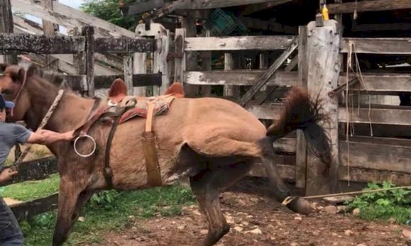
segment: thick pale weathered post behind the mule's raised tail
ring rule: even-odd
[[[312,98],[323,100],[324,112],[329,116],[322,123],[331,138],[332,163],[329,177],[324,177],[324,164],[311,153],[307,155],[307,196],[334,193],[338,189],[339,145],[338,145],[338,98],[329,92],[338,86],[341,61],[339,60],[340,37],[334,20],[324,21],[316,27],[315,21],[307,26],[307,87]]]

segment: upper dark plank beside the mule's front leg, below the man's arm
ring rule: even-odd
[[[57,160],[55,157],[44,157],[28,162],[21,162],[18,166],[18,175],[6,181],[1,186],[20,183],[29,180],[41,180],[50,177],[57,172]]]

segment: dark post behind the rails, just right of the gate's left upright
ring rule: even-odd
[[[182,18],[182,28],[185,28],[185,35],[187,37],[197,36],[196,18],[193,11],[187,11],[187,15]],[[197,70],[198,59],[197,51],[185,52],[185,64],[187,71]],[[185,84],[185,95],[187,97],[196,96],[198,86],[192,84]]]

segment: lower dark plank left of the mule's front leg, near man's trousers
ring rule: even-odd
[[[13,211],[14,216],[16,216],[16,219],[18,221],[23,221],[41,213],[53,211],[57,209],[57,204],[58,194],[53,194],[45,198],[35,199],[25,203],[13,204],[10,208],[11,211]]]

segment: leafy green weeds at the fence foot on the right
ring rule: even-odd
[[[369,183],[364,190],[395,187],[390,181],[379,185]],[[347,201],[349,208],[359,208],[359,217],[366,220],[388,220],[394,218],[396,223],[411,224],[411,190],[395,189],[378,191],[375,193],[356,196],[352,201]]]

